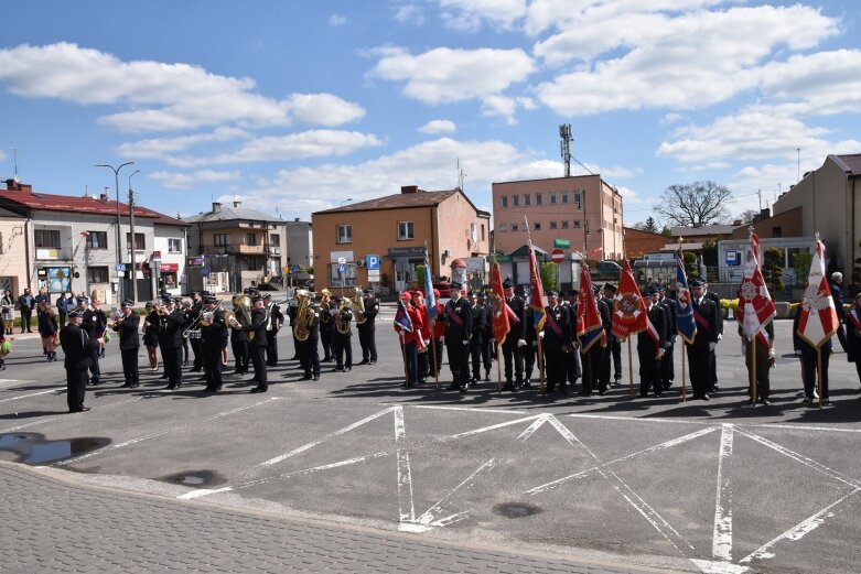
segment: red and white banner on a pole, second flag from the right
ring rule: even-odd
[[[751,246],[745,250],[744,279],[739,289],[739,308],[735,317],[747,340],[756,337],[766,348],[771,348],[772,342],[768,339],[765,326],[777,315],[777,310],[765,284],[761,253],[760,238],[756,234],[751,234]]]

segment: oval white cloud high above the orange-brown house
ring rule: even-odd
[[[437,105],[499,94],[534,71],[535,63],[519,48],[438,47],[416,56],[389,48],[369,76],[405,80],[407,96]]]

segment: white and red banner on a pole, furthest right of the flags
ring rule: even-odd
[[[825,245],[816,239],[816,252],[807,274],[807,286],[804,291],[801,316],[798,320],[798,336],[815,348],[821,347],[837,332],[839,321],[835,300],[825,277]]]

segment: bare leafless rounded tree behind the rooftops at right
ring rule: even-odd
[[[670,185],[654,209],[674,225],[692,227],[710,225],[729,218],[727,202],[730,189],[712,181]]]

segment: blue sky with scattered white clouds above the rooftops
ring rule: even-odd
[[[286,218],[398,193],[563,175],[618,187],[625,224],[671,184],[767,207],[861,152],[861,31],[844,1],[3,2],[0,175],[190,215]],[[586,173],[572,162],[572,173]]]

